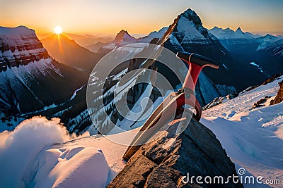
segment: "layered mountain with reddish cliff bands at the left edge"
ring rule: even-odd
[[[0,27],[0,104],[9,114],[67,101],[86,79],[48,54],[35,31]]]

